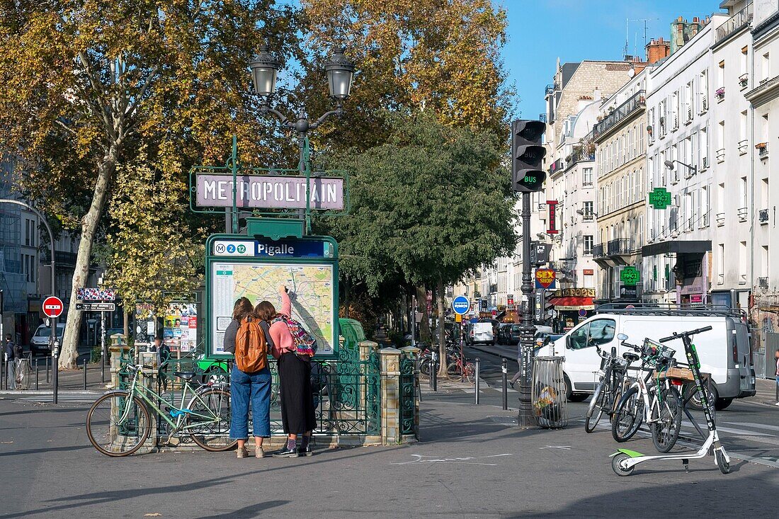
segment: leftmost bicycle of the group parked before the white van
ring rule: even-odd
[[[601,355],[603,376],[595,388],[590,407],[587,408],[587,414],[584,418],[584,430],[587,433],[592,433],[595,430],[604,413],[609,417],[614,414],[615,406],[622,397],[628,382],[627,369],[631,363],[639,359],[638,355],[629,351],[622,354],[622,358],[619,358],[617,348],[612,348],[611,354],[602,351],[598,346],[596,348],[597,354]]]

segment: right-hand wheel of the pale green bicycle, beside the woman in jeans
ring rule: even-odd
[[[192,441],[211,452],[229,450],[238,440],[230,438],[230,391],[222,389],[205,390],[189,401],[185,431]]]

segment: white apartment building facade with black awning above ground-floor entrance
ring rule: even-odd
[[[721,159],[717,150],[724,139],[710,99],[717,79],[711,79],[716,72],[711,47],[714,28],[727,19],[716,14],[703,23],[693,19],[696,34],[649,72],[647,192],[665,189],[671,203],[647,207],[645,301],[709,302],[712,161]]]

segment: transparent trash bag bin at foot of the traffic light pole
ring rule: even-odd
[[[564,357],[535,357],[530,399],[538,425],[562,429],[568,425],[566,383],[562,375]]]

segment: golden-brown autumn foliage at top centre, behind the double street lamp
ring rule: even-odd
[[[383,143],[382,111],[428,111],[447,125],[506,135],[510,92],[499,51],[506,12],[490,0],[302,0],[311,48],[342,44],[357,65],[344,124],[322,129],[334,149]],[[326,53],[305,62],[306,91],[322,89],[315,73]],[[307,95],[319,113],[323,96]]]

